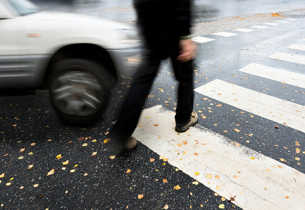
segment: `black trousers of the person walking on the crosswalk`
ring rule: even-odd
[[[166,49],[161,51],[171,58],[175,72],[175,77],[179,82],[178,89],[178,106],[176,109],[175,120],[178,125],[185,125],[190,120],[190,114],[193,110],[194,87],[193,87],[193,67],[192,60],[187,62],[179,62],[176,58],[179,55],[178,41],[171,41]],[[162,58],[160,49],[148,47],[144,54],[142,66],[134,75],[129,94],[127,95],[118,120],[112,128],[110,136],[119,142],[125,142],[134,132],[138,124],[143,104],[149,94],[152,83],[156,76]]]

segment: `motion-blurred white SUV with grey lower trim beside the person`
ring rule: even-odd
[[[0,0],[0,88],[46,87],[63,120],[92,123],[141,62],[137,38],[129,25]]]

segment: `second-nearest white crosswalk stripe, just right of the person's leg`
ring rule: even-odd
[[[279,124],[305,132],[305,106],[218,79],[196,88],[195,91]]]

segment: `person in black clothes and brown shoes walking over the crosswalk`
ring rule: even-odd
[[[185,132],[198,121],[197,113],[192,111],[195,44],[189,37],[190,4],[191,0],[134,0],[138,26],[145,42],[143,64],[134,75],[129,94],[110,133],[110,137],[127,151],[137,146],[137,140],[131,134],[162,59],[171,58],[179,82],[175,130]]]

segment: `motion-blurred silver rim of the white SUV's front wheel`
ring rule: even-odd
[[[65,72],[51,85],[54,105],[63,113],[86,116],[96,113],[105,101],[105,91],[88,72]]]

